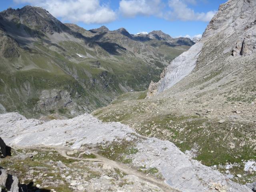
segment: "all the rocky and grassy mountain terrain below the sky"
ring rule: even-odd
[[[0,28],[0,190],[256,192],[255,0],[196,44],[31,6]]]

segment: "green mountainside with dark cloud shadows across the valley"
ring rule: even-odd
[[[0,112],[76,116],[145,90],[190,47],[156,42],[136,41],[124,29],[62,24],[38,7],[9,8],[0,13]]]

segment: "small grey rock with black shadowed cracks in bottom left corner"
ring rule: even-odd
[[[7,174],[2,168],[0,168],[0,186],[3,186],[7,192],[19,192],[18,178]]]

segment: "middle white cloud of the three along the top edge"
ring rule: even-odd
[[[119,2],[119,10],[126,17],[159,15],[161,7],[161,0],[121,0]]]

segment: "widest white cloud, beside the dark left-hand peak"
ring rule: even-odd
[[[116,20],[116,13],[99,0],[14,0],[30,3],[48,10],[54,17],[86,24],[108,23]]]

